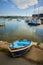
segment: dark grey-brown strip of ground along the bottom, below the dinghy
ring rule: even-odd
[[[0,52],[0,65],[43,65],[43,64],[26,60],[23,57],[11,58],[5,53]]]

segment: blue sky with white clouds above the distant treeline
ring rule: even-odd
[[[0,0],[0,16],[31,16],[43,13],[43,0]]]

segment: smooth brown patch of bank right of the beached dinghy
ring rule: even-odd
[[[43,50],[37,46],[32,46],[31,50],[24,55],[24,58],[35,62],[43,62]]]

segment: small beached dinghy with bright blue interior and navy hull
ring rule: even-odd
[[[12,56],[20,56],[26,53],[31,46],[31,40],[17,40],[9,45],[9,51]]]

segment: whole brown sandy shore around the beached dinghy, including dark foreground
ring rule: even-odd
[[[8,42],[0,42],[1,48],[7,48]],[[39,45],[40,48],[32,46],[30,52],[27,52],[24,56],[18,58],[11,58],[8,53],[3,53],[0,51],[0,65],[43,65],[43,62],[35,62],[35,61],[43,61],[43,45]],[[32,60],[29,60],[32,59]]]

